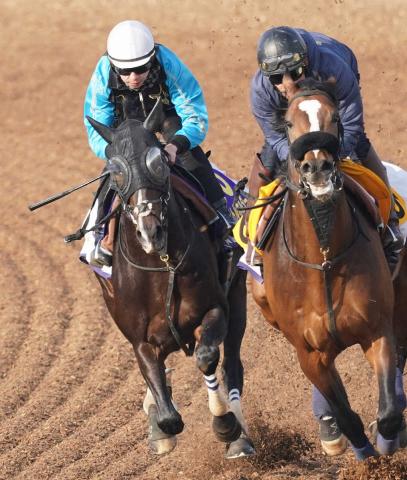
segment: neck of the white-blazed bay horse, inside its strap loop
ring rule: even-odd
[[[308,202],[308,204],[306,203]],[[329,248],[329,256],[341,253],[354,236],[354,221],[343,191],[325,204],[302,200],[295,192],[287,197],[284,230],[295,253],[308,262],[321,259],[321,248]]]

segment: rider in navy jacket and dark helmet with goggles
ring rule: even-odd
[[[365,133],[358,63],[349,47],[322,33],[286,26],[273,27],[260,37],[257,61],[259,69],[251,84],[251,105],[265,141],[261,155],[255,159],[250,173],[249,193],[252,197],[258,196],[264,178],[274,177],[278,164],[288,158],[288,139],[276,121],[287,108],[283,84],[286,73],[289,73],[293,81],[306,77],[319,81],[335,81],[338,113],[343,130],[340,157],[359,161],[391,190],[386,168]],[[263,176],[259,176],[259,172],[262,172]],[[391,270],[395,268],[400,249],[404,245],[394,205],[393,201],[383,236]]]

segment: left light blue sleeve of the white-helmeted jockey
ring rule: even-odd
[[[108,87],[110,62],[106,56],[100,58],[90,79],[83,108],[84,123],[88,133],[89,146],[99,158],[106,159],[104,140],[86,119],[86,116],[104,125],[111,126],[114,121],[114,105],[109,101],[111,89]]]

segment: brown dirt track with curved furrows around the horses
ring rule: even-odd
[[[119,3],[113,7],[113,3]],[[144,386],[130,345],[104,307],[97,281],[62,237],[80,224],[91,189],[29,213],[27,205],[98,174],[87,146],[84,92],[118,21],[145,21],[191,67],[205,91],[205,147],[231,175],[247,175],[261,136],[248,86],[258,36],[277,24],[348,43],[362,74],[368,133],[383,158],[407,167],[405,0],[23,2],[1,0],[2,228],[0,257],[0,479],[407,478],[405,452],[355,467],[325,459],[310,387],[291,346],[250,300],[243,358],[253,460],[226,461],[212,435],[193,360],[174,360],[174,394],[186,424],[178,447],[147,449]],[[357,348],[339,369],[365,424],[376,385]],[[355,469],[356,468],[356,469]],[[373,473],[375,472],[375,473]]]

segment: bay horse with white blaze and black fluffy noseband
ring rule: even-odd
[[[394,291],[376,226],[343,188],[341,126],[331,82],[285,75],[282,114],[289,148],[282,214],[263,252],[264,285],[253,291],[265,318],[295,347],[357,459],[376,455],[351,409],[335,358],[359,344],[378,388],[380,454],[398,448]]]

